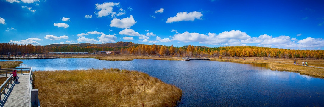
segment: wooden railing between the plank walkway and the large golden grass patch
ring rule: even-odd
[[[29,107],[41,107],[40,100],[38,99],[38,89],[33,89],[33,70],[30,68],[29,79]]]

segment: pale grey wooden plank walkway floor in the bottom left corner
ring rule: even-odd
[[[13,81],[9,89],[1,95],[0,107],[29,107],[29,73],[18,73],[17,79],[18,81]]]

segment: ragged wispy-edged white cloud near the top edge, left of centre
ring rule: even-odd
[[[118,3],[110,2],[110,3],[103,3],[99,5],[98,3],[96,4],[96,9],[100,10],[96,14],[98,15],[97,17],[103,17],[103,16],[108,16],[112,14],[111,16],[114,16],[114,12],[112,12],[112,6],[119,5]]]

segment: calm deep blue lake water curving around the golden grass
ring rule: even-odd
[[[90,58],[22,60],[33,70],[138,70],[179,87],[182,106],[324,106],[324,80],[262,65],[206,60],[104,61]]]

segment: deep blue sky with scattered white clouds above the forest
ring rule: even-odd
[[[324,1],[0,0],[2,43],[324,49]]]

